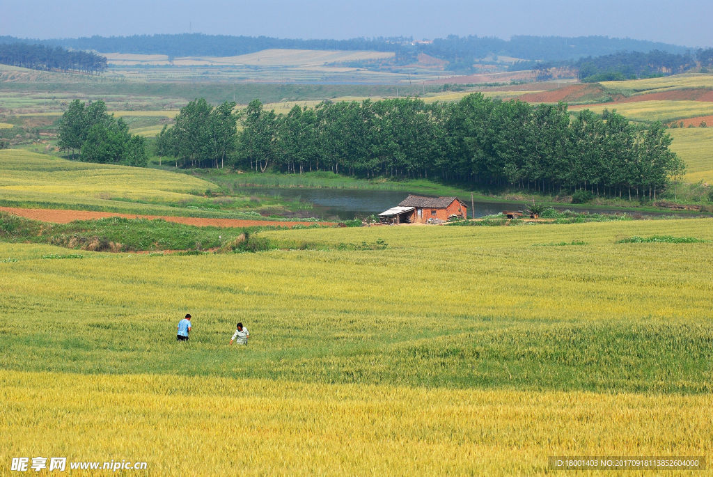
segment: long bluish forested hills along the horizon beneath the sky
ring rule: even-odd
[[[413,62],[420,53],[448,61],[457,70],[471,68],[473,60],[486,56],[508,56],[525,61],[576,60],[585,56],[602,56],[620,51],[653,50],[683,54],[685,46],[616,39],[607,36],[513,36],[510,40],[496,37],[455,36],[433,41],[414,41],[406,37],[350,39],[350,40],[301,40],[277,39],[267,36],[227,36],[205,34],[91,36],[78,39],[30,40],[0,36],[0,43],[18,41],[62,46],[76,50],[94,50],[104,53],[163,54],[182,56],[237,56],[271,48],[302,50],[359,50],[396,53],[402,64]]]

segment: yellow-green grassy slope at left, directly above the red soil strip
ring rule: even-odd
[[[25,150],[0,150],[0,205],[154,215],[237,217],[285,202],[249,196],[205,197],[219,187],[180,173],[81,163]]]

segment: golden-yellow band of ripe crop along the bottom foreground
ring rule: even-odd
[[[0,382],[6,466],[64,456],[145,461],[156,476],[505,476],[545,473],[548,456],[695,456],[713,445],[709,395],[7,370]]]

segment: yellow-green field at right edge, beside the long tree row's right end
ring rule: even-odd
[[[689,182],[713,183],[713,128],[670,129],[674,150],[686,163]]]

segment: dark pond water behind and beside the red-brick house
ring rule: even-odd
[[[304,189],[304,188],[247,188],[247,193],[270,195],[289,200],[312,203],[307,215],[324,220],[351,220],[354,217],[378,215],[398,205],[409,195],[395,190],[363,189]],[[416,194],[419,195],[419,194]],[[460,198],[468,205],[468,217],[472,217],[471,199]],[[503,210],[522,210],[523,204],[512,202],[475,202],[476,217],[497,214]],[[561,207],[563,209],[566,206]],[[581,209],[580,209],[581,210]],[[585,210],[583,210],[584,212]],[[624,212],[623,210],[589,210],[588,212]],[[632,211],[635,212],[635,211]]]

